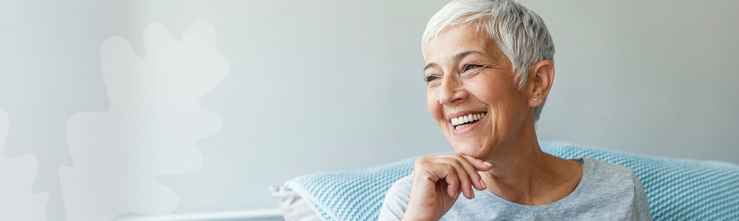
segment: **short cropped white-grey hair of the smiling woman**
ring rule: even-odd
[[[454,25],[473,25],[477,31],[488,32],[491,41],[511,60],[514,85],[519,91],[525,89],[528,71],[535,63],[542,60],[554,63],[554,42],[544,20],[515,0],[449,2],[426,24],[421,41],[423,59],[426,59],[426,43]],[[544,102],[534,109],[534,122],[539,120]]]

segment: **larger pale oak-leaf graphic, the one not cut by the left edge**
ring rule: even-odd
[[[177,194],[157,175],[202,166],[195,142],[217,133],[218,113],[198,102],[228,74],[212,24],[195,21],[181,41],[158,22],[144,30],[146,56],[120,37],[101,46],[105,112],[75,113],[67,123],[73,167],[60,169],[67,220],[111,220],[119,214],[167,214]]]

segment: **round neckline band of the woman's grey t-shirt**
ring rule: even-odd
[[[486,195],[487,197],[490,197],[491,199],[495,200],[497,203],[501,203],[501,204],[503,204],[505,206],[509,206],[511,208],[522,210],[522,211],[545,211],[545,210],[549,210],[549,209],[552,209],[552,208],[556,208],[556,207],[559,207],[559,206],[564,205],[565,203],[570,202],[571,200],[573,200],[574,198],[576,198],[582,192],[582,189],[585,189],[585,187],[583,187],[583,186],[585,186],[585,183],[588,180],[588,177],[590,175],[590,167],[592,166],[591,164],[593,164],[592,161],[591,161],[592,158],[579,157],[579,158],[570,158],[568,160],[569,161],[576,161],[576,162],[579,163],[579,160],[581,160],[581,159],[582,159],[582,178],[580,178],[580,182],[577,183],[577,187],[575,188],[575,190],[573,190],[566,197],[564,197],[562,199],[559,199],[559,200],[556,200],[553,203],[548,203],[548,204],[544,204],[544,205],[537,205],[537,206],[523,205],[523,204],[518,204],[518,203],[514,203],[514,202],[511,202],[511,201],[505,200],[505,199],[503,199],[503,197],[499,197],[498,195],[496,195],[496,194],[494,194],[492,192],[489,192],[488,190],[483,190],[483,191],[477,191],[477,190],[475,190],[475,191],[476,192],[482,192],[483,195]]]

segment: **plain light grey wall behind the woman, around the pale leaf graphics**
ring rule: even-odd
[[[231,70],[200,100],[222,129],[203,166],[157,176],[173,213],[273,208],[270,184],[451,150],[426,109],[420,36],[446,1],[3,1],[4,157],[38,157],[34,192],[65,220],[59,167],[72,114],[106,111],[101,43],[140,57],[154,21],[214,25]],[[739,163],[737,1],[534,1],[556,47],[539,139]],[[115,176],[115,174],[113,174]]]

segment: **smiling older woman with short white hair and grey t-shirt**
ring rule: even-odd
[[[452,1],[427,24],[422,51],[429,111],[456,153],[419,158],[380,220],[652,220],[631,169],[539,147],[554,44],[533,10]]]

